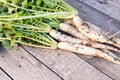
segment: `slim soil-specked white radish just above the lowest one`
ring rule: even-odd
[[[98,48],[98,49],[109,49],[109,50],[113,50],[116,52],[120,53],[120,50],[118,50],[117,48],[114,48],[112,46],[108,46],[108,45],[104,45],[104,44],[100,44],[100,43],[96,43],[90,40],[84,40],[84,39],[78,39],[69,35],[65,35],[59,31],[56,30],[51,30],[49,33],[54,39],[58,40],[58,41],[62,41],[62,42],[71,42],[71,43],[79,43],[79,44],[83,44],[86,46],[90,46],[93,48]]]

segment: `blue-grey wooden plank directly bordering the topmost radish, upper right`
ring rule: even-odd
[[[79,0],[66,0],[70,5],[75,7],[79,11],[79,16],[84,19],[85,21],[94,23],[102,27],[103,29],[109,31],[110,26],[112,27],[112,33],[120,31],[120,21],[107,16],[94,8],[85,5],[84,3],[80,2]],[[110,25],[108,21],[112,20]]]

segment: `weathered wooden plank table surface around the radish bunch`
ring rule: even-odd
[[[112,26],[112,33],[120,31],[120,0],[66,1],[85,21],[107,31]],[[120,80],[120,65],[59,49],[0,46],[0,80]]]

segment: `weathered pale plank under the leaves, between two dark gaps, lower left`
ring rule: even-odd
[[[52,71],[21,47],[0,50],[0,67],[15,80],[60,80]]]

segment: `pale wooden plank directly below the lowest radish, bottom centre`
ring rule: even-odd
[[[23,46],[65,80],[111,80],[73,53]]]

